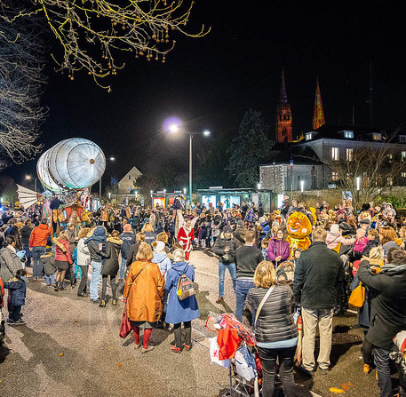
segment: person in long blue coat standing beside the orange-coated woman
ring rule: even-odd
[[[192,320],[199,318],[199,306],[195,295],[183,300],[179,300],[177,295],[178,282],[182,274],[194,282],[195,268],[187,265],[185,253],[183,250],[177,249],[173,251],[174,263],[168,270],[166,275],[165,290],[169,292],[168,308],[166,312],[165,322],[173,324],[174,329],[174,344],[171,345],[171,350],[175,353],[182,351],[182,346],[186,350],[192,348]],[[182,344],[182,322],[184,325],[184,343]]]

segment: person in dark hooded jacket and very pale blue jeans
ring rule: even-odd
[[[101,251],[106,248],[106,228],[97,226],[90,237],[84,240],[89,252],[91,253],[92,280],[90,285],[92,303],[99,303],[99,283],[101,272]]]

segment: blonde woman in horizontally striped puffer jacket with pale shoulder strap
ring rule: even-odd
[[[262,364],[262,395],[274,395],[278,359],[283,395],[294,396],[293,363],[298,344],[298,328],[292,315],[293,292],[287,284],[276,284],[274,266],[267,260],[257,266],[254,285],[247,298],[252,308],[252,323],[255,326],[255,338]]]

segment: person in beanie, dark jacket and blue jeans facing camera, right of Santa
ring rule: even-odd
[[[226,269],[228,269],[233,280],[233,289],[235,291],[235,250],[237,250],[238,246],[238,241],[233,235],[231,226],[224,226],[223,232],[219,235],[213,247],[213,252],[219,256],[219,298],[217,298],[216,303],[221,303],[224,299]]]

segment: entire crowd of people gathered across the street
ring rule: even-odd
[[[302,238],[294,234],[291,217],[299,219],[298,227],[306,231]],[[0,278],[10,290],[10,325],[24,323],[23,267],[32,266],[34,280],[44,277],[55,291],[65,290],[67,279],[75,288],[80,279],[77,295],[88,297],[89,290],[91,302],[100,307],[107,305],[107,282],[111,304],[117,304],[118,277],[124,282],[123,298],[136,347],[142,345],[142,353],[152,350],[148,341],[158,326],[174,330],[174,353],[189,350],[191,322],[199,317],[199,308],[195,296],[179,300],[179,279],[186,275],[194,281],[190,252],[204,250],[219,259],[217,303],[225,298],[228,269],[236,319],[243,322],[246,303],[251,306],[264,396],[274,393],[277,362],[284,395],[294,395],[293,364],[299,343],[295,313],[300,312],[303,321],[299,369],[309,377],[316,369],[328,373],[333,316],[346,312],[348,298],[360,282],[365,288],[358,314],[364,330],[360,370],[368,374],[375,367],[381,396],[393,395],[390,353],[394,337],[406,330],[406,225],[391,203],[363,204],[356,211],[350,200],[333,208],[325,201],[307,207],[286,197],[272,213],[247,202],[231,209],[219,202],[216,208],[199,204],[185,210],[179,201],[168,209],[105,206],[86,224],[68,223],[58,235],[41,214],[16,217],[4,212],[3,222]],[[291,276],[286,265],[291,266]],[[317,329],[320,349],[315,360]]]

